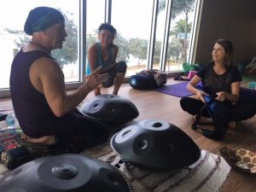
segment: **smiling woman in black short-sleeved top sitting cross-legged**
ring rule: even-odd
[[[203,117],[212,117],[215,130],[203,131],[203,135],[211,139],[222,139],[230,121],[245,120],[256,113],[255,105],[252,103],[238,103],[241,74],[233,66],[232,58],[232,43],[218,39],[212,50],[212,61],[202,66],[187,85],[187,89],[195,94],[195,98],[183,97],[180,101],[184,111],[196,115],[205,104],[204,96],[215,97],[213,113],[210,115],[207,108],[202,113]],[[202,90],[196,87],[200,81]]]

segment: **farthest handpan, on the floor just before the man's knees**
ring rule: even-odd
[[[81,106],[81,112],[107,122],[128,122],[137,118],[136,106],[123,96],[104,94],[95,96]]]

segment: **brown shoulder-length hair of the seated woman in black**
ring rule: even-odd
[[[224,67],[231,67],[233,65],[233,44],[225,39],[218,39],[215,44],[220,44],[225,50]]]

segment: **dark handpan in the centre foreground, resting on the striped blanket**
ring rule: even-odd
[[[185,132],[157,119],[126,126],[113,135],[110,144],[126,162],[158,171],[178,171],[201,156],[200,148]]]

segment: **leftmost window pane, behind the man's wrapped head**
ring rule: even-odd
[[[9,0],[0,7],[0,49],[2,51],[0,57],[0,89],[9,88],[9,73],[14,56],[31,39],[23,32],[26,17],[31,9],[38,6],[60,9],[67,16],[66,30],[68,37],[65,44],[63,44],[63,48],[55,50],[53,56],[60,61],[66,81],[79,80],[79,1]]]

